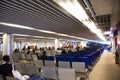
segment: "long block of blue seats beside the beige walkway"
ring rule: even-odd
[[[56,65],[58,66],[59,61],[69,61],[70,65],[72,65],[72,62],[85,62],[85,67],[88,68],[100,57],[103,50],[104,49],[101,48],[99,50],[94,49],[89,51],[72,52],[72,55],[69,53],[65,55],[56,55]],[[48,56],[48,60],[54,60],[54,56]]]

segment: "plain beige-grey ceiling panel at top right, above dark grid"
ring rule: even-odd
[[[96,16],[111,14],[114,0],[89,0],[94,8]]]

